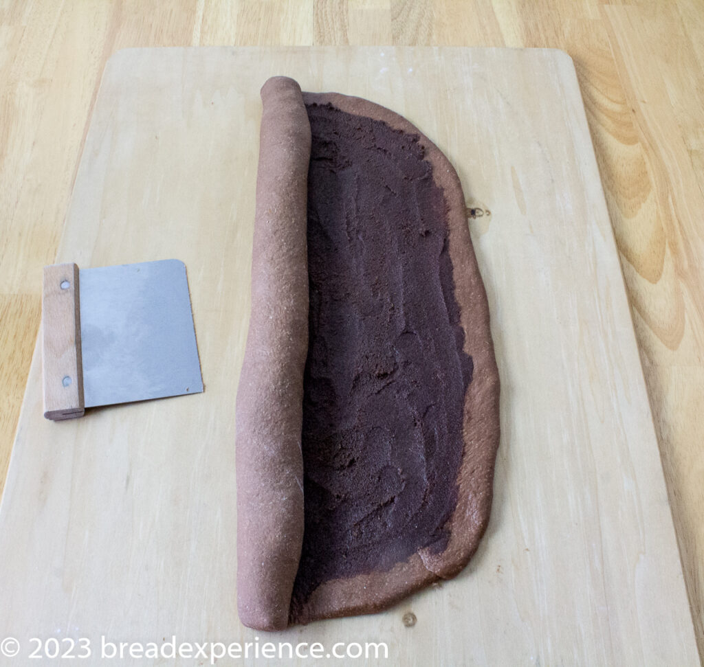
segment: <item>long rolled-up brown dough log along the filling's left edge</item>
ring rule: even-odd
[[[295,81],[272,78],[261,96],[253,307],[236,406],[237,604],[245,625],[280,630],[303,540],[310,125]]]

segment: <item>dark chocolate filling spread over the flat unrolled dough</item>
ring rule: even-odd
[[[305,532],[292,604],[444,550],[457,500],[463,351],[446,202],[418,136],[307,107]]]

